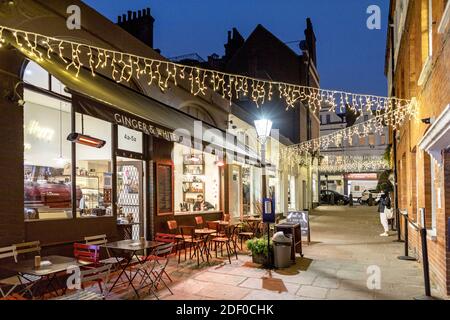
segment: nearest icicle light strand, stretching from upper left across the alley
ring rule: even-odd
[[[257,79],[62,40],[1,25],[0,45],[5,43],[6,33],[13,36],[12,41],[16,47],[38,62],[44,58],[53,59],[55,53],[55,57],[60,59],[75,77],[78,77],[84,65],[89,68],[92,76],[97,72],[107,72],[105,69],[109,67],[111,78],[119,83],[129,82],[133,77],[144,78],[147,79],[148,85],[156,84],[163,92],[167,91],[169,84],[177,86],[179,81],[187,80],[193,95],[204,96],[208,90],[212,90],[229,100],[230,104],[241,95],[248,96],[259,107],[271,101],[275,91],[278,91],[277,96],[284,102],[286,110],[300,104],[308,106],[313,113],[324,109],[342,112],[347,108],[359,117],[364,114],[385,115],[394,110],[408,108],[410,105],[410,100],[406,99]]]

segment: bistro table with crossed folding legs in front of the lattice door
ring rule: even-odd
[[[139,292],[138,289],[133,284],[134,278],[136,278],[138,272],[134,274],[134,276],[128,275],[127,268],[131,265],[133,262],[133,259],[136,259],[135,261],[140,264],[141,267],[143,267],[144,263],[148,260],[148,257],[153,253],[153,250],[157,247],[163,245],[164,242],[159,241],[146,241],[146,240],[122,240],[122,241],[116,241],[116,242],[109,242],[102,247],[107,248],[111,251],[121,251],[121,252],[127,252],[128,255],[125,256],[124,260],[125,263],[122,263],[123,261],[120,261],[120,257],[118,255],[114,255],[117,259],[117,263],[119,266],[121,266],[122,271],[120,272],[119,276],[117,277],[116,281],[114,281],[114,284],[109,289],[109,292],[111,292],[115,286],[118,284],[119,279],[125,275],[128,279],[128,286],[131,286],[134,290],[134,293],[139,298]],[[142,251],[143,256],[139,256],[137,253]],[[144,268],[141,269],[144,272],[144,276],[146,279],[150,278],[150,275],[145,271]],[[141,283],[144,282],[145,279],[142,279]],[[139,289],[141,289],[140,287]]]

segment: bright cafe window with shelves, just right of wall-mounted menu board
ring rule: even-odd
[[[175,143],[173,162],[176,214],[220,210],[217,157]]]

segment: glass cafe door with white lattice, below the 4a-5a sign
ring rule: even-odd
[[[117,214],[131,224],[134,240],[146,234],[143,177],[142,160],[117,158]]]

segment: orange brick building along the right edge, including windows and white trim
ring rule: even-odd
[[[402,231],[421,261],[416,227],[428,229],[432,286],[442,296],[450,294],[449,21],[448,0],[391,1],[386,54],[390,94],[417,101],[417,119],[391,132],[398,209],[410,219]]]

